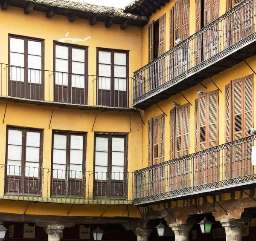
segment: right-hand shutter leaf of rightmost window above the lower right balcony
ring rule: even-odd
[[[243,78],[244,83],[244,136],[249,136],[248,129],[253,127],[253,74]]]

